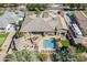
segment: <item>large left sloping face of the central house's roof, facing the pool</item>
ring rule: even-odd
[[[53,31],[53,29],[42,19],[35,18],[33,20],[28,20],[29,23],[22,26],[22,32],[47,32]]]

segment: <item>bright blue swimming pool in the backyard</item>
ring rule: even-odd
[[[56,41],[54,37],[50,37],[48,40],[43,41],[43,47],[44,48],[55,48]]]

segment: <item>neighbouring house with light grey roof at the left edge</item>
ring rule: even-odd
[[[0,17],[0,32],[13,32],[18,30],[19,21],[23,20],[21,13],[17,15],[14,12],[6,11],[3,15]]]

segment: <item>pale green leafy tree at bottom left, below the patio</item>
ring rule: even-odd
[[[9,54],[4,58],[6,62],[37,62],[40,61],[36,52],[29,50],[15,51],[13,54]]]

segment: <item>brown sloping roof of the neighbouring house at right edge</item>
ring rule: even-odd
[[[80,11],[76,11],[75,18],[77,20],[78,26],[83,32],[83,35],[87,36],[87,18]]]

